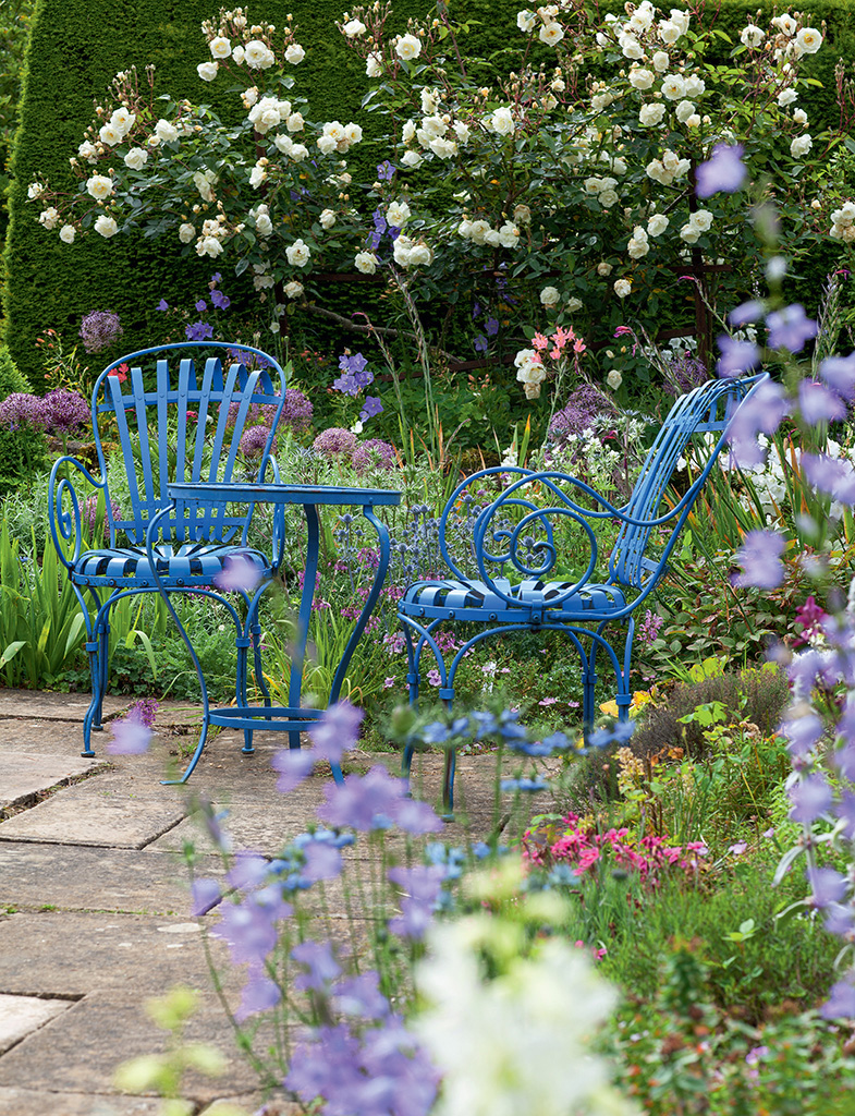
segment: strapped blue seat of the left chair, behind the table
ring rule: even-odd
[[[167,587],[211,585],[229,558],[240,557],[251,562],[262,578],[273,568],[270,559],[259,550],[223,543],[158,545],[155,555],[157,573]],[[77,559],[70,576],[77,585],[120,586],[125,580],[133,580],[140,587],[155,584],[145,547],[88,550]]]

